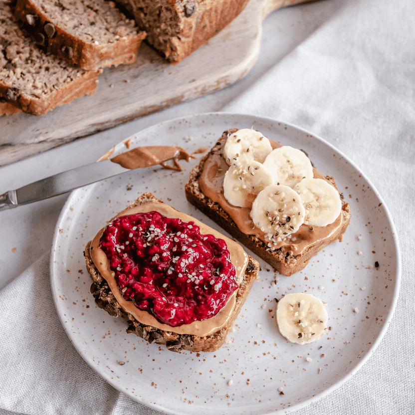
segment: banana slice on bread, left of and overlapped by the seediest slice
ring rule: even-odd
[[[251,160],[238,164],[225,173],[223,196],[233,206],[249,208],[259,192],[274,184],[274,178],[261,163]]]

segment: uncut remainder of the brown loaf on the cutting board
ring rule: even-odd
[[[146,41],[180,62],[230,23],[248,0],[116,0],[134,16]]]

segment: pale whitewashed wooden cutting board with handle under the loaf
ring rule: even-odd
[[[313,1],[250,0],[177,65],[143,43],[136,63],[104,70],[94,95],[41,117],[22,112],[0,117],[0,166],[231,85],[258,57],[263,19],[277,8]]]

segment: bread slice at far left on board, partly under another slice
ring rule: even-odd
[[[8,3],[0,1],[0,98],[42,115],[95,92],[100,71],[84,71],[44,53],[25,36]]]

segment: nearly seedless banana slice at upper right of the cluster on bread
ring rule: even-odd
[[[265,159],[264,166],[274,176],[275,183],[290,188],[303,179],[313,177],[309,158],[301,150],[290,146],[273,150]]]

